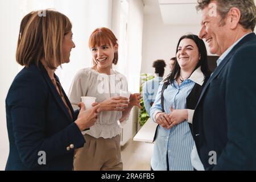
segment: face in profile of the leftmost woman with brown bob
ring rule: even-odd
[[[68,32],[63,38],[63,60],[62,63],[69,63],[70,52],[72,48],[75,48],[75,43],[72,40],[72,31]]]

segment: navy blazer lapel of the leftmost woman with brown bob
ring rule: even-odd
[[[59,106],[61,107],[61,109],[65,113],[66,117],[68,118],[68,120],[72,122],[72,119],[71,119],[71,116],[68,113],[67,107],[65,106],[62,98],[60,97],[60,94],[57,92],[55,86],[53,85],[53,83],[51,81],[51,78],[49,77],[49,75],[48,75],[46,69],[44,68],[44,66],[42,65],[42,63],[39,63],[39,68],[40,68],[40,71],[42,72],[44,78],[46,79],[46,82],[47,82],[47,84],[48,84],[48,86],[49,86],[49,88],[50,88],[50,90],[51,90],[55,100],[57,101],[57,104],[59,104]],[[66,98],[66,100],[67,100],[67,98]],[[68,106],[70,108],[70,104]],[[72,115],[74,115],[73,109],[71,109],[71,112],[72,112]]]

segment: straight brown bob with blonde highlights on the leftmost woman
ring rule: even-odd
[[[20,24],[16,61],[29,67],[43,60],[48,68],[56,69],[63,63],[63,38],[71,28],[64,14],[53,10],[32,11]]]

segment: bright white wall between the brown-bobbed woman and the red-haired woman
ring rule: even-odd
[[[112,26],[112,0],[55,0],[55,7],[71,20],[73,41],[76,44],[71,51],[70,63],[63,64],[63,69],[56,71],[65,92],[68,93],[76,72],[92,66],[92,54],[88,47],[90,34],[98,27]]]

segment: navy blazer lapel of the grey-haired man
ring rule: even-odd
[[[204,89],[202,90],[202,93],[199,97],[199,100],[197,101],[196,104],[196,108],[199,105],[201,98],[204,96],[205,90],[208,88],[210,82],[216,77],[218,76],[218,73],[221,72],[221,70],[225,67],[225,65],[230,61],[230,59],[232,58],[232,56],[234,55],[234,53],[236,52],[236,50],[241,47],[245,42],[253,39],[255,37],[254,33],[251,33],[249,35],[246,35],[242,40],[240,40],[240,42],[237,43],[237,45],[229,52],[229,54],[224,58],[224,60],[221,61],[221,64],[218,65],[218,67],[214,70],[214,72],[212,73],[212,76],[210,76],[209,80],[207,81],[207,83],[204,86]],[[195,109],[196,109],[195,108]]]

